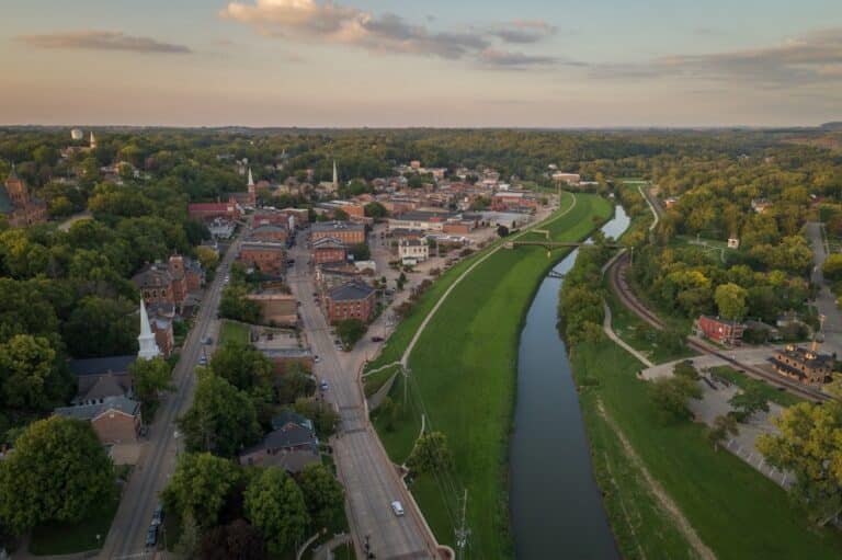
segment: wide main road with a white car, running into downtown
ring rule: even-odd
[[[326,399],[337,405],[341,424],[331,439],[337,469],[348,496],[351,530],[357,545],[368,536],[376,558],[436,558],[436,545],[426,524],[397,470],[374,432],[365,408],[365,398],[357,375],[377,345],[371,336],[385,333],[382,316],[369,328],[367,339],[352,352],[338,351],[334,336],[318,304],[312,297],[314,276],[307,265],[308,249],[299,236],[291,255],[296,264],[287,275],[293,294],[301,301],[299,312],[303,328],[319,356],[315,374],[327,380]],[[384,313],[385,315],[385,313]],[[396,516],[390,503],[399,500],[406,514]]]

